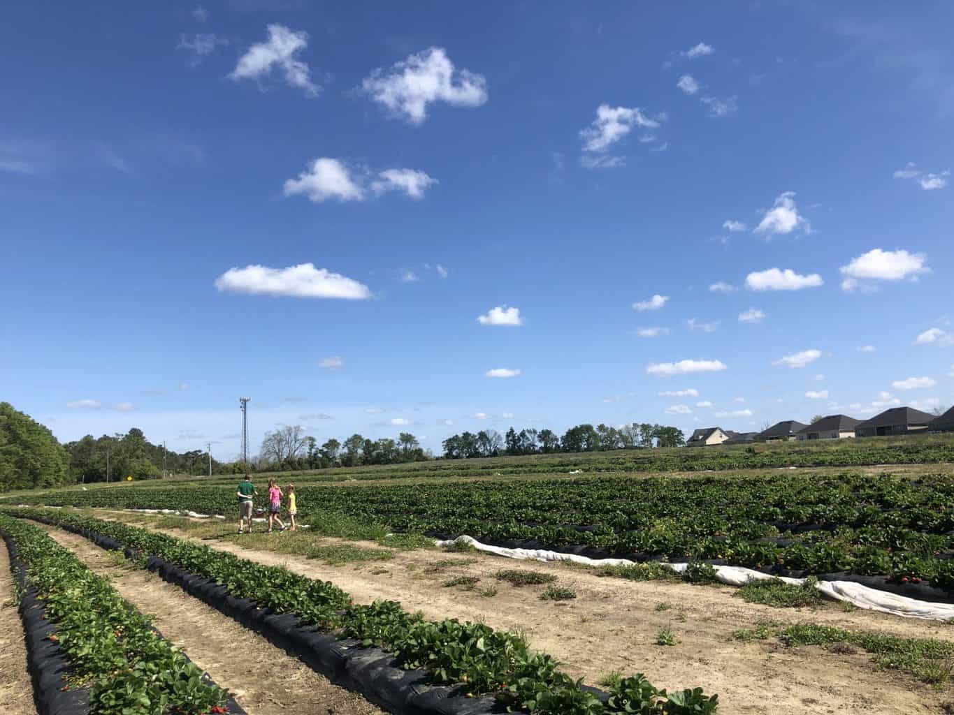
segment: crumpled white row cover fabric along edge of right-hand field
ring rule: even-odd
[[[591,559],[586,556],[563,554],[559,551],[548,551],[547,549],[509,549],[503,546],[491,546],[487,543],[481,543],[469,536],[459,536],[457,539],[451,541],[436,541],[438,546],[448,546],[455,542],[469,543],[478,551],[485,551],[488,554],[503,556],[507,559],[523,559],[538,562],[574,562],[587,566],[629,566],[634,563],[629,559]],[[681,573],[688,565],[686,563],[660,563],[673,569],[676,573]],[[715,566],[715,569],[716,580],[731,586],[742,586],[750,581],[777,578],[743,566]],[[790,579],[786,577],[781,577],[781,581],[791,583],[792,585],[801,585],[805,582],[804,579]],[[917,599],[898,596],[877,588],[871,588],[861,583],[849,581],[819,581],[816,585],[821,593],[831,599],[854,603],[859,608],[866,608],[870,611],[881,611],[881,613],[890,613],[894,616],[901,616],[902,618],[920,618],[935,621],[950,621],[954,619],[954,604],[951,603],[918,601]]]

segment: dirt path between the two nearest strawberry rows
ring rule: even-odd
[[[80,536],[44,528],[93,571],[108,576],[124,599],[142,613],[154,614],[162,635],[206,669],[216,683],[234,692],[249,715],[382,713],[178,586],[148,571],[116,565],[106,551]]]

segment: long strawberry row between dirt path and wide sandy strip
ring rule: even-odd
[[[382,647],[402,667],[424,669],[437,684],[460,684],[472,694],[492,693],[510,709],[551,715],[716,712],[716,695],[705,695],[700,688],[669,693],[649,684],[642,675],[623,679],[603,702],[559,670],[549,655],[531,651],[520,636],[482,623],[428,622],[395,602],[355,604],[330,582],[313,581],[277,566],[119,522],[53,510],[8,511],[109,536],[185,571],[214,579],[237,598],[251,599],[277,614],[295,614],[302,624],[321,631]]]

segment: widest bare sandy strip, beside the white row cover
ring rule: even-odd
[[[187,532],[167,531],[179,538]],[[290,533],[274,539],[295,539]],[[844,612],[831,604],[819,609],[778,609],[733,598],[729,586],[682,582],[627,582],[599,578],[589,570],[563,564],[515,562],[482,554],[447,554],[437,550],[396,552],[385,562],[331,566],[303,557],[245,547],[234,535],[227,541],[197,540],[243,558],[280,564],[312,578],[336,583],[358,603],[376,599],[400,601],[426,618],[480,621],[495,628],[521,631],[529,643],[565,663],[574,677],[597,684],[617,670],[637,672],[657,686],[675,689],[701,686],[717,692],[726,713],[805,715],[878,712],[941,713],[954,700],[949,689],[937,691],[897,671],[879,671],[863,651],[839,654],[821,647],[786,648],[777,642],[740,643],[730,636],[759,621],[826,623],[892,635],[954,641],[954,627],[945,623],[901,619],[869,611]],[[323,540],[334,543],[337,540]],[[377,544],[349,541],[380,548]],[[460,563],[438,571],[436,562]],[[543,602],[542,586],[517,588],[497,582],[501,568],[526,568],[556,575],[577,591],[569,602]],[[430,569],[430,570],[428,570]],[[497,587],[482,597],[477,591],[443,587],[457,575],[476,576],[477,588]],[[669,604],[657,610],[660,603]],[[679,643],[655,644],[658,632],[671,629]],[[767,705],[767,699],[771,705]]]

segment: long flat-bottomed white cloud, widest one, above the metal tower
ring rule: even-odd
[[[371,297],[371,291],[363,283],[324,268],[315,268],[314,263],[301,263],[288,268],[246,266],[230,268],[216,278],[219,291],[250,293],[267,296],[344,298],[363,300]]]

